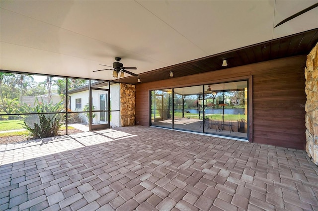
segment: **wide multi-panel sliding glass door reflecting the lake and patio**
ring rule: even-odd
[[[247,139],[247,121],[247,81],[151,91],[152,126]]]

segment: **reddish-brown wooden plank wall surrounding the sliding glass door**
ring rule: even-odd
[[[305,149],[306,56],[294,56],[136,85],[136,123],[150,125],[150,90],[252,76],[254,143]]]

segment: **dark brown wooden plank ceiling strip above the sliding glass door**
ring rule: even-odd
[[[169,79],[170,71],[173,71],[174,77],[182,77],[277,58],[304,55],[308,54],[317,42],[318,28],[268,42],[144,72],[139,74],[139,78],[141,79],[141,83],[146,83]],[[228,66],[222,66],[223,58],[227,58]],[[129,76],[116,79],[114,81],[127,84],[137,84],[137,79],[138,77]]]

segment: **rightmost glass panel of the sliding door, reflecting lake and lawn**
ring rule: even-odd
[[[204,94],[204,131],[247,138],[247,81],[205,85]]]

